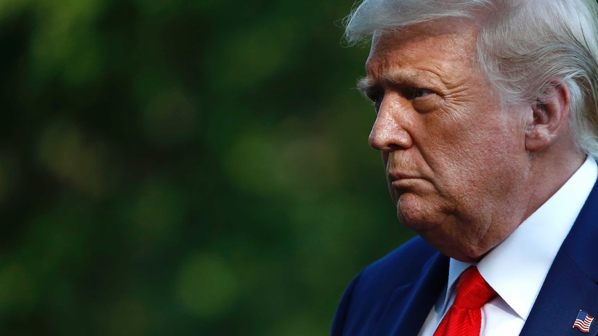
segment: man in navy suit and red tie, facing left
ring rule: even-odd
[[[349,40],[372,37],[370,145],[418,237],[354,278],[332,335],[598,334],[597,7],[355,8]]]

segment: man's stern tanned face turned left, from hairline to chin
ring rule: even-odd
[[[377,109],[370,145],[407,227],[476,260],[524,220],[522,109],[503,109],[477,68],[473,26],[375,35],[359,86]]]

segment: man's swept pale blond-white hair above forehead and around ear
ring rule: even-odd
[[[598,157],[596,0],[364,0],[345,19],[345,37],[479,17],[488,18],[477,38],[479,67],[502,102],[542,103],[550,85],[565,85],[576,145]]]

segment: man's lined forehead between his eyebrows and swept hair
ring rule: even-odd
[[[418,24],[398,31],[375,33],[366,62],[368,77],[383,78],[396,72],[406,78],[443,79],[451,73],[472,70],[477,58],[478,28],[442,21]]]

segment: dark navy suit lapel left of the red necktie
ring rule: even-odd
[[[375,335],[416,336],[448,278],[449,258],[440,253],[429,260],[420,280],[393,292]]]

